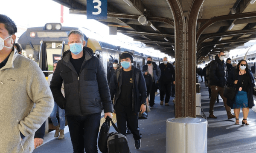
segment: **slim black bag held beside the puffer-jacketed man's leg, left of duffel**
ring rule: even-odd
[[[108,142],[109,127],[110,127],[110,120],[107,117],[105,122],[102,124],[100,128],[99,138],[98,138],[98,147],[102,153],[108,152],[107,142]]]

